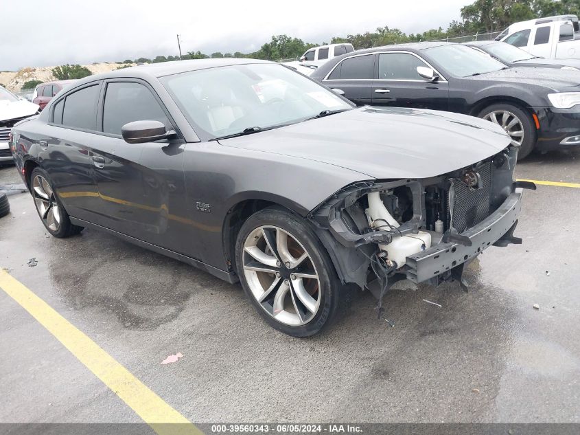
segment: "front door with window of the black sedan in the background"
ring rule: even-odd
[[[417,67],[431,68],[412,52],[378,54],[377,79],[373,82],[373,106],[448,110],[449,84],[445,78],[430,82],[419,76]]]

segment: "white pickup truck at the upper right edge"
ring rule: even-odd
[[[514,23],[497,38],[548,59],[580,59],[580,34],[575,15],[548,16]]]

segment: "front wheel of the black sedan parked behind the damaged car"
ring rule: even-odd
[[[520,107],[507,103],[492,104],[479,113],[479,118],[498,124],[511,137],[511,144],[520,146],[518,160],[532,152],[536,141],[533,120]]]

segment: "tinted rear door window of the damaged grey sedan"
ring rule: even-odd
[[[62,111],[62,124],[76,129],[96,130],[99,89],[97,84],[69,94]]]

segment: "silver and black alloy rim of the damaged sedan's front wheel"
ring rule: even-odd
[[[275,320],[307,324],[318,312],[321,285],[312,258],[289,232],[272,225],[246,237],[244,275],[253,297]]]

